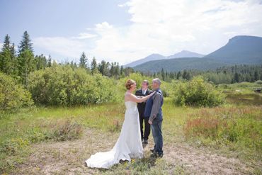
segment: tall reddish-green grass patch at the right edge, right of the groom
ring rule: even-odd
[[[201,108],[183,127],[188,139],[262,153],[262,106]],[[254,154],[253,154],[254,155]]]

